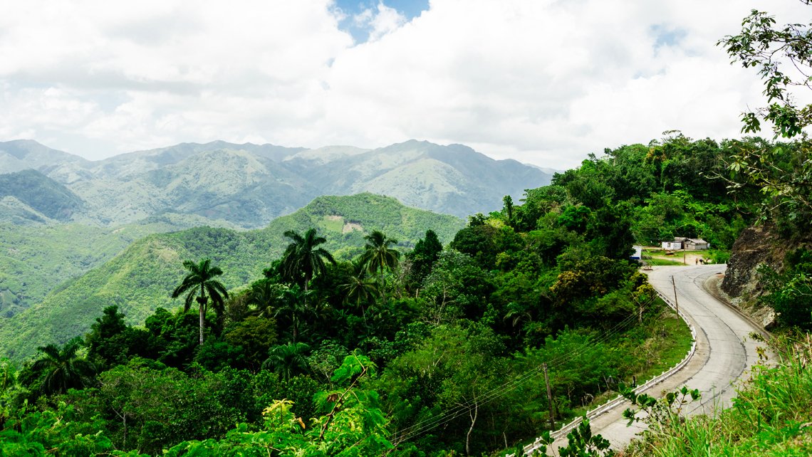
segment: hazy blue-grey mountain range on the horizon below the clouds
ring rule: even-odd
[[[551,175],[497,161],[461,144],[409,140],[385,148],[183,143],[87,161],[32,140],[0,142],[0,172],[34,169],[75,194],[73,222],[118,226],[162,213],[265,226],[322,195],[373,192],[466,217],[499,209],[505,195]]]

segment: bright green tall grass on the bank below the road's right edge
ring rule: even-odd
[[[812,339],[796,334],[773,346],[778,360],[754,367],[732,407],[684,420],[690,396],[671,407],[660,400],[650,407],[659,411],[657,419],[648,420],[650,429],[624,455],[812,455]]]

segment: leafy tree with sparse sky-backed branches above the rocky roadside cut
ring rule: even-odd
[[[801,0],[806,5],[810,0]],[[741,23],[741,33],[728,35],[723,46],[733,63],[757,68],[764,80],[767,106],[742,114],[743,132],[758,132],[761,122],[772,124],[775,136],[793,138],[812,125],[812,104],[797,104],[797,89],[812,88],[812,24],[775,25],[775,18],[753,10]],[[808,95],[808,93],[806,93]],[[806,136],[794,147],[775,145],[749,148],[740,144],[728,168],[744,183],[753,183],[778,205],[786,205],[788,218],[806,227],[812,220],[812,159]],[[744,183],[733,183],[741,188]]]

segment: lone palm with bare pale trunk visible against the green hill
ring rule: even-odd
[[[224,311],[223,304],[225,299],[228,298],[228,291],[226,291],[226,287],[222,285],[222,282],[214,279],[214,277],[222,274],[222,269],[218,266],[211,266],[210,259],[203,259],[199,264],[193,261],[184,261],[184,268],[188,269],[189,273],[184,278],[184,281],[178,287],[175,287],[175,291],[172,291],[172,298],[178,298],[181,294],[186,293],[184,313],[191,308],[192,299],[197,300],[200,309],[200,343],[203,344],[203,326],[209,297],[211,297],[214,312],[217,313],[219,318]],[[195,298],[197,291],[200,291],[200,295]],[[208,297],[206,296],[207,293],[209,294]]]

